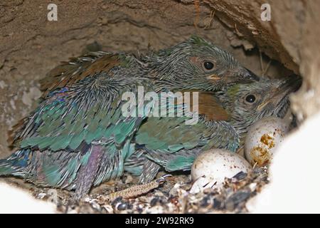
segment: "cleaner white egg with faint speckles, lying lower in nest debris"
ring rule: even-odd
[[[199,188],[219,187],[225,177],[234,177],[238,172],[250,172],[251,165],[240,155],[229,150],[212,149],[199,155],[191,167],[191,178],[194,182],[191,192]],[[196,184],[196,185],[195,185]],[[197,185],[201,185],[200,187]]]

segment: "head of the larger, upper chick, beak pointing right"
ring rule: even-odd
[[[230,53],[197,36],[145,60],[151,68],[150,75],[171,89],[212,91],[233,83],[259,81]]]

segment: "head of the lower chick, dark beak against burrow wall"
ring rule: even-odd
[[[301,84],[299,76],[281,80],[261,78],[255,83],[230,86],[217,94],[230,113],[230,123],[244,135],[250,125],[263,117],[283,118],[289,108],[289,93],[298,90]]]

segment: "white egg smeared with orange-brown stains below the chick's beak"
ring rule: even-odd
[[[257,121],[245,138],[245,158],[251,165],[269,165],[274,152],[289,131],[289,123],[274,116]]]

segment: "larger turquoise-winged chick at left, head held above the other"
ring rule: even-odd
[[[43,97],[14,128],[16,152],[0,160],[0,175],[75,190],[80,199],[120,177],[135,151],[132,138],[148,113],[122,115],[124,93],[139,86],[217,91],[255,80],[230,53],[196,36],[142,58],[102,51],[72,58],[43,79]]]

